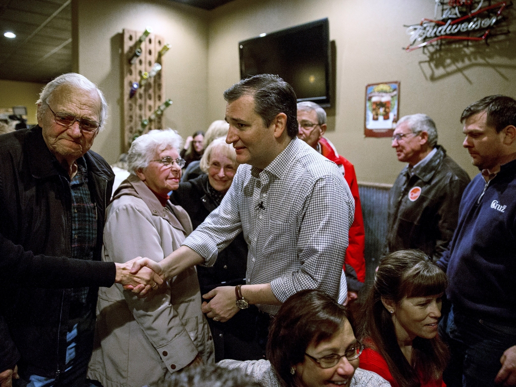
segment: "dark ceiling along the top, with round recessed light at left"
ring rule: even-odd
[[[232,0],[171,1],[211,10]],[[71,0],[0,0],[0,79],[46,83],[70,71]]]

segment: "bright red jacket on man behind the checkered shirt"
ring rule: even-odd
[[[358,193],[357,175],[355,174],[353,164],[348,162],[344,157],[337,154],[332,144],[324,137],[319,140],[321,154],[332,160],[336,165],[344,167],[344,179],[349,185],[351,195],[355,201],[354,220],[349,228],[349,245],[346,249],[344,263],[350,265],[356,272],[360,282],[365,281],[365,231],[364,219],[362,217],[362,206],[360,205],[360,196]]]

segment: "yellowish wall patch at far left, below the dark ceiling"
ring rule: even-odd
[[[36,118],[36,101],[44,86],[44,83],[0,79],[0,107],[26,106],[27,123],[35,125],[38,123]]]

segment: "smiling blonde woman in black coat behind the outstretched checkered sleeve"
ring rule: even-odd
[[[213,140],[204,151],[200,167],[203,174],[181,183],[170,194],[172,203],[181,205],[190,215],[194,229],[219,206],[231,186],[238,168],[235,149],[225,142],[225,137]],[[245,284],[247,253],[244,234],[240,233],[218,254],[215,265],[198,266],[201,294],[217,286]],[[214,338],[215,361],[262,359],[264,348],[253,341],[256,326],[261,321],[259,315],[257,308],[251,305],[226,322],[208,321]]]

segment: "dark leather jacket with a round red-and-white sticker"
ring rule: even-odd
[[[457,228],[459,203],[470,177],[443,147],[428,163],[401,170],[389,192],[384,255],[420,249],[437,262]]]

